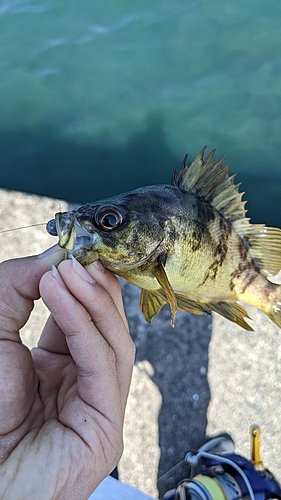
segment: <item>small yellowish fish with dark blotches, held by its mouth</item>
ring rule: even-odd
[[[47,231],[83,266],[100,259],[139,286],[148,322],[168,303],[172,326],[177,310],[213,311],[253,330],[242,302],[281,328],[281,230],[250,223],[225,156],[205,150],[189,166],[186,155],[171,184],[58,212]]]

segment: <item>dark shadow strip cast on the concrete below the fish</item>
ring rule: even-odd
[[[161,497],[187,472],[181,466],[171,473],[166,474],[167,471],[181,462],[187,451],[197,450],[205,441],[210,401],[207,374],[212,319],[211,316],[178,312],[175,328],[172,328],[170,310],[165,306],[152,323],[147,324],[138,310],[139,290],[123,280],[122,289],[137,348],[136,362],[149,361],[154,372],[152,381],[162,396],[158,419],[161,452],[158,489]],[[140,419],[145,422],[145,416],[136,417],[138,422]]]

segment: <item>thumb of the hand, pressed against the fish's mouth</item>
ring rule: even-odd
[[[65,251],[55,245],[39,256],[0,264],[0,339],[15,340],[15,333],[27,322],[34,300],[40,296],[41,277],[64,256]]]

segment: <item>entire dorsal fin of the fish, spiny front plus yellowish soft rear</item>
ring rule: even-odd
[[[180,171],[173,173],[172,185],[202,196],[232,225],[240,238],[247,242],[249,253],[261,272],[268,278],[281,269],[281,230],[264,224],[250,224],[245,217],[244,193],[240,184],[234,184],[235,175],[229,177],[229,166],[223,168],[225,157],[213,163],[215,149],[204,160],[203,148],[191,165],[184,157]]]

